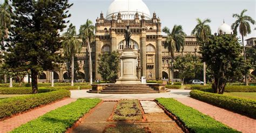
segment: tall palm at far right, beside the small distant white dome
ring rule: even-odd
[[[250,16],[246,16],[244,13],[247,10],[244,9],[240,14],[233,14],[233,18],[237,20],[232,24],[232,29],[234,34],[237,34],[237,30],[239,28],[239,33],[242,35],[242,47],[244,51],[244,60],[246,61],[246,53],[245,53],[245,45],[244,45],[244,36],[251,33],[251,24],[255,24],[255,20],[253,20]],[[248,85],[248,76],[245,75],[245,85]]]

